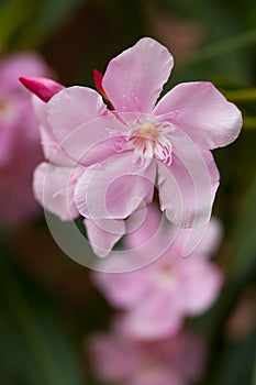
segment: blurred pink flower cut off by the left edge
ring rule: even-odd
[[[12,54],[0,62],[1,223],[20,223],[40,212],[31,184],[43,154],[31,95],[18,80],[21,74],[48,76],[51,72],[34,53]]]

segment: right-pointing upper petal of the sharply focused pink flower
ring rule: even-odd
[[[243,123],[235,105],[207,81],[176,86],[154,110],[157,116],[171,112],[171,122],[207,148],[222,147],[235,141]]]

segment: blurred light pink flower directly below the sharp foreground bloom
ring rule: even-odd
[[[134,250],[135,257],[140,257],[140,245],[151,239],[148,223],[156,223],[157,213],[149,208],[143,224],[126,235],[126,246]],[[121,274],[92,273],[94,284],[110,304],[125,310],[124,322],[131,336],[141,339],[172,336],[180,330],[185,317],[202,314],[216,299],[223,278],[209,255],[219,244],[220,223],[212,219],[190,256],[181,257],[189,232],[197,237],[197,229],[181,229],[168,251],[144,268]],[[156,249],[155,254],[158,252]],[[122,252],[115,261],[122,264]],[[109,263],[111,272],[111,260]]]

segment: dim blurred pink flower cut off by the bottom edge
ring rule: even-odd
[[[203,341],[188,331],[141,341],[118,326],[92,336],[86,348],[94,376],[111,385],[189,385],[199,380],[205,360]]]

